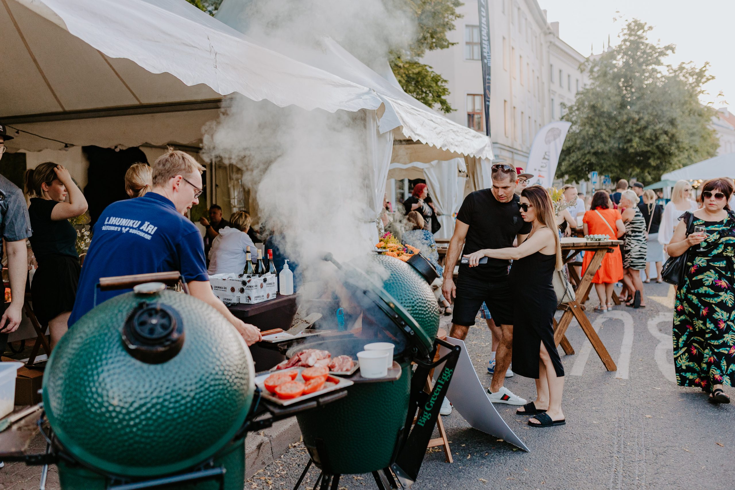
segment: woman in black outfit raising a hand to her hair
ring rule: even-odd
[[[76,230],[68,219],[85,214],[87,200],[69,170],[53,162],[26,171],[26,194],[33,228],[29,241],[38,262],[31,283],[33,310],[41,325],[49,324],[53,349],[67,330],[81,273]]]

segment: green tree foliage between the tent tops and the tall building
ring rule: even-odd
[[[419,62],[426,51],[445,49],[451,43],[447,32],[454,29],[454,21],[462,18],[456,9],[459,0],[384,0],[390,7],[409,10],[416,17],[416,40],[404,52],[391,51],[390,68],[406,93],[429,107],[452,112],[445,98],[449,95],[447,81],[431,66]]]

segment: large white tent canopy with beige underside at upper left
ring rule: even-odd
[[[383,104],[181,0],[4,0],[0,46],[0,121],[75,145],[193,143],[234,92],[329,112]],[[63,143],[21,134],[8,146]]]

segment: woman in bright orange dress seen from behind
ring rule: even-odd
[[[612,209],[610,202],[610,197],[606,192],[601,190],[595,192],[589,211],[584,213],[582,220],[585,235],[609,235],[610,238],[617,239],[625,234],[623,217],[620,211]],[[587,266],[589,262],[592,262],[593,256],[595,253],[584,254],[583,274],[587,271]],[[623,279],[623,256],[620,254],[620,247],[616,245],[612,253],[605,254],[602,265],[595,273],[595,278],[592,279],[598,298],[600,298],[600,306],[596,306],[595,311],[612,311],[613,287],[621,279]]]

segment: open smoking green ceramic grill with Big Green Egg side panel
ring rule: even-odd
[[[330,256],[326,259],[334,262]],[[375,476],[379,488],[394,486],[392,473],[401,483],[410,485],[423,461],[445,392],[441,386],[442,392],[437,392],[438,405],[431,406],[424,419],[426,423],[416,425],[409,436],[417,409],[426,407],[429,397],[423,392],[426,376],[438,364],[431,361],[437,348],[435,337],[440,311],[429,286],[437,273],[423,256],[415,256],[406,263],[390,256],[374,255],[337,266],[341,268],[340,278],[350,296],[345,309],[359,309],[362,328],[354,338],[292,347],[287,356],[309,347],[354,357],[366,343],[392,342],[394,361],[400,366],[401,375],[383,382],[358,382],[353,378],[355,384],[348,387],[348,396],[343,400],[298,415],[304,445],[312,461],[322,469],[323,488],[329,480],[337,485],[334,479],[338,482],[339,475],[369,472]],[[456,347],[448,347],[452,356],[459,356]],[[417,364],[416,372],[412,371],[412,361]],[[445,370],[449,369],[451,378],[456,357],[453,361],[442,361],[447,361]],[[402,458],[403,454],[408,457]]]

